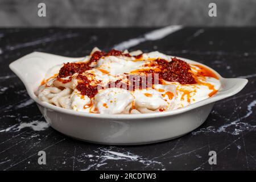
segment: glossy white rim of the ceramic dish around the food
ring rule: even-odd
[[[36,54],[36,53],[43,53],[43,54],[47,54],[47,55],[58,56],[58,55],[53,55],[53,54],[44,53],[44,52],[32,52],[28,55],[32,56],[32,54]],[[25,56],[28,56],[28,55],[25,55]],[[233,96],[234,94],[240,92],[248,82],[248,80],[245,79],[245,78],[224,78],[218,72],[216,72],[214,69],[208,67],[205,64],[202,64],[202,63],[199,63],[197,61],[193,61],[193,60],[190,60],[190,59],[187,59],[187,58],[184,58],[184,57],[167,55],[167,56],[171,56],[171,57],[177,57],[178,59],[181,59],[181,60],[184,60],[184,61],[191,62],[192,64],[203,65],[203,67],[208,68],[210,71],[212,71],[213,73],[215,73],[218,76],[218,78],[221,82],[221,89],[218,90],[218,92],[212,97],[209,97],[205,100],[202,100],[202,101],[196,102],[194,104],[190,104],[188,106],[181,107],[181,108],[175,109],[175,110],[168,110],[168,111],[156,112],[156,113],[142,113],[142,114],[100,114],[100,113],[92,114],[92,113],[84,113],[82,111],[75,111],[75,110],[71,110],[71,109],[65,109],[63,107],[58,107],[58,106],[51,105],[51,104],[49,104],[48,102],[45,102],[45,101],[40,101],[39,98],[35,95],[33,88],[30,88],[30,86],[28,86],[28,83],[26,82],[26,80],[24,80],[23,75],[20,74],[19,71],[18,71],[18,68],[15,67],[15,63],[18,63],[18,62],[26,59],[25,56],[21,57],[18,60],[13,61],[12,63],[10,63],[9,67],[10,67],[11,71],[13,71],[15,73],[15,75],[17,75],[20,78],[20,80],[23,82],[24,86],[26,87],[27,93],[32,98],[32,100],[34,100],[36,102],[36,104],[39,104],[39,105],[41,105],[43,107],[46,107],[47,109],[51,109],[53,111],[57,111],[59,113],[76,115],[76,116],[79,116],[79,117],[87,117],[87,118],[146,119],[146,118],[159,118],[159,117],[168,117],[168,116],[171,116],[171,115],[177,115],[177,114],[185,113],[186,111],[196,109],[198,107],[210,104],[212,102],[216,102],[216,101],[222,100],[224,98]],[[61,57],[63,57],[63,56],[61,56]],[[29,58],[29,57],[27,57],[27,58]],[[65,58],[73,59],[73,60],[82,59],[82,57],[65,57]],[[65,61],[63,63],[65,63]],[[228,90],[225,90],[224,91],[225,93],[219,92],[222,89],[224,89],[223,84],[224,84],[225,81],[232,81],[232,80],[237,80],[237,82],[240,81],[241,84],[240,85],[235,84],[232,88],[229,89],[231,92],[227,92]],[[236,88],[234,88],[234,87],[236,87]]]

